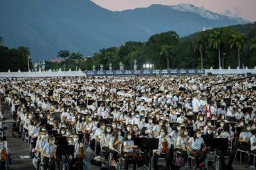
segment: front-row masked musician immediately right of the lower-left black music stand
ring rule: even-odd
[[[74,134],[73,136],[73,145],[75,146],[74,158],[70,159],[68,169],[77,169],[75,166],[73,166],[75,162],[77,162],[78,169],[82,170],[83,169],[82,162],[84,160],[85,154],[84,154],[84,145],[82,144],[82,142],[79,141],[78,134]]]

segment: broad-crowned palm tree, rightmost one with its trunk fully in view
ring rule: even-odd
[[[230,47],[236,47],[237,48],[237,56],[238,56],[238,67],[240,68],[240,50],[241,47],[243,47],[245,43],[246,36],[244,34],[232,34],[232,37],[229,41]]]

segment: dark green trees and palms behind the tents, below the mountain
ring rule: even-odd
[[[1,38],[0,43],[3,43]],[[6,64],[1,57],[1,71],[8,68],[17,71],[17,66],[13,67],[17,64],[21,65],[21,71],[28,70],[28,54],[28,47],[9,50],[1,46],[0,56],[12,56],[12,60],[6,59],[13,61]],[[139,70],[143,69],[145,63],[154,64],[154,68],[159,70],[255,67],[256,23],[214,28],[182,38],[174,31],[163,32],[150,36],[146,42],[127,41],[120,47],[102,49],[86,58],[80,52],[68,50],[60,50],[56,56],[61,57],[62,61],[46,61],[46,70],[92,70],[93,65],[95,70],[100,70],[100,65],[104,66],[104,70],[109,70],[109,64],[112,70],[118,70],[120,62],[125,70],[133,70],[135,60]]]

